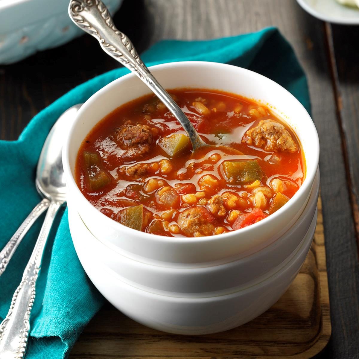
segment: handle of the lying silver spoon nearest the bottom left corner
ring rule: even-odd
[[[41,269],[42,255],[52,222],[62,203],[63,201],[50,202],[21,283],[15,290],[7,316],[0,324],[1,359],[20,359],[25,355],[30,331],[30,314],[35,300],[35,286]]]

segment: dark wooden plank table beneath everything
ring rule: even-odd
[[[208,39],[271,25],[292,44],[321,144],[332,336],[319,357],[359,358],[359,27],[323,23],[295,0],[126,0],[115,23],[139,51],[164,38]],[[42,108],[117,66],[89,36],[0,66],[0,139],[16,139]]]

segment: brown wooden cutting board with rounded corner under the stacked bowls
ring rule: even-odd
[[[306,262],[285,294],[261,316],[211,335],[159,332],[107,305],[81,334],[70,359],[307,359],[331,334],[321,200],[314,241]]]

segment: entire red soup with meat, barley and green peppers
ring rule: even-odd
[[[87,135],[75,168],[81,192],[103,214],[147,233],[210,236],[266,218],[302,185],[300,143],[269,108],[217,90],[170,93],[217,147],[193,153],[154,95],[115,109]]]

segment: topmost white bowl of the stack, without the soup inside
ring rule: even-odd
[[[285,233],[302,214],[312,191],[319,159],[317,131],[306,109],[286,89],[253,71],[214,62],[173,62],[150,68],[166,89],[206,88],[224,90],[268,106],[297,134],[306,158],[306,178],[297,193],[282,208],[246,228],[200,238],[172,238],[126,227],[98,211],[79,190],[75,162],[81,143],[90,130],[122,104],[149,93],[134,74],[109,83],[79,109],[63,149],[67,195],[90,232],[101,242],[149,260],[199,264],[233,256],[246,257],[267,247]]]

